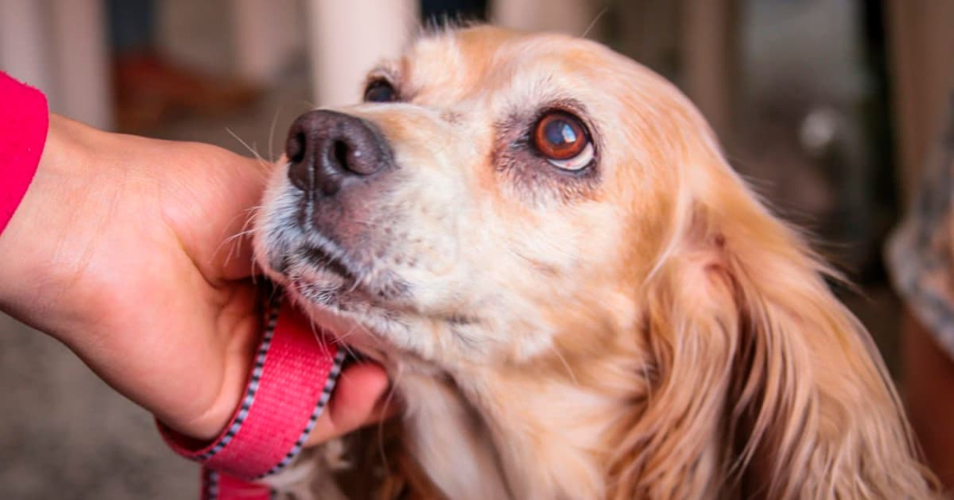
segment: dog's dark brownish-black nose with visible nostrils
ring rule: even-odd
[[[335,111],[308,111],[288,130],[288,178],[300,190],[336,194],[349,180],[391,165],[390,150],[373,125]]]

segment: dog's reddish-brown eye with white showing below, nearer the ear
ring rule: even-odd
[[[590,165],[593,147],[580,119],[565,111],[551,111],[533,130],[533,147],[554,167],[581,170]]]

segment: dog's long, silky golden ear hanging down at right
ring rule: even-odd
[[[614,496],[929,496],[898,395],[829,271],[706,156],[641,293],[651,391]]]

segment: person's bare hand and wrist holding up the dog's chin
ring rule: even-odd
[[[0,236],[0,310],[69,346],[174,430],[215,437],[260,329],[247,230],[267,166],[55,115]],[[309,443],[380,418],[384,371],[342,373]]]

